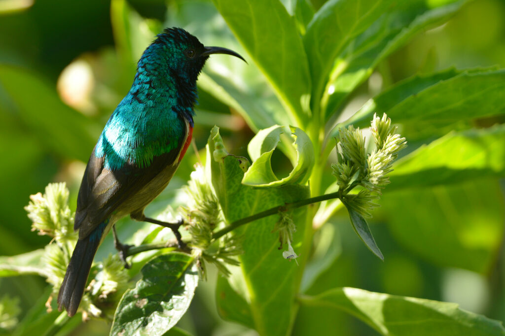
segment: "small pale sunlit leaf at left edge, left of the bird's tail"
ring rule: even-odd
[[[14,256],[0,257],[0,277],[22,274],[37,274],[47,277],[45,265],[41,260],[43,255],[44,249],[38,249]]]

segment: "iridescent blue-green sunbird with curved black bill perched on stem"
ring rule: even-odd
[[[204,46],[181,28],[166,28],[144,50],[131,89],[118,104],[91,152],[77,196],[78,240],[58,293],[58,309],[73,316],[84,294],[98,246],[114,224],[130,215],[172,229],[179,247],[182,222],[144,215],[168,185],[190,144],[196,80],[209,55],[237,57],[233,50]],[[121,255],[121,253],[120,253]],[[124,260],[124,255],[123,255]]]

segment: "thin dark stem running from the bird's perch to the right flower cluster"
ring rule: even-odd
[[[316,196],[316,197],[302,199],[302,200],[299,200],[299,201],[296,201],[293,203],[285,203],[284,205],[275,206],[275,207],[270,208],[268,210],[255,213],[252,216],[248,216],[248,217],[244,217],[244,218],[235,220],[234,222],[230,223],[230,225],[228,225],[227,227],[219,230],[218,232],[215,232],[212,235],[212,239],[218,239],[218,238],[226,235],[230,231],[232,231],[232,230],[234,230],[244,224],[247,224],[251,221],[255,221],[255,220],[263,218],[263,217],[271,216],[273,214],[279,213],[279,211],[287,211],[290,209],[299,208],[300,206],[305,206],[305,205],[309,205],[312,203],[318,203],[318,202],[326,201],[329,199],[338,198],[339,196],[340,196],[340,192],[336,191],[331,194],[320,195],[320,196]]]

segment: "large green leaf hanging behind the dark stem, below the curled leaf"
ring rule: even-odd
[[[214,128],[207,147],[206,169],[219,199],[227,222],[233,222],[271,208],[276,205],[307,198],[309,188],[286,185],[270,189],[258,189],[241,184],[244,172],[239,160],[227,155],[219,130]],[[307,208],[289,212],[296,223],[293,248],[300,258],[300,266],[282,257],[279,236],[272,233],[278,215],[271,215],[252,221],[233,231],[243,236],[244,253],[240,255],[241,278],[247,291],[247,298],[256,330],[262,335],[285,335],[289,333],[296,311],[293,297],[297,293],[305,259],[309,255],[311,242],[311,222]],[[217,293],[217,300],[226,300]],[[226,293],[226,292],[225,292]],[[238,292],[237,292],[237,295]],[[227,304],[218,303],[222,316],[234,318],[236,312]],[[244,323],[244,317],[235,318]]]

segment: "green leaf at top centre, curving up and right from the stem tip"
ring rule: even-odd
[[[312,104],[321,98],[335,58],[384,12],[392,0],[330,0],[307,27],[304,45],[312,76]]]

